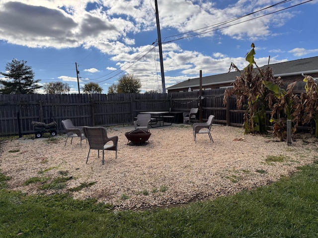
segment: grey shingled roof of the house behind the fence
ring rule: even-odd
[[[262,67],[266,67],[264,65]],[[298,74],[310,74],[318,72],[318,56],[311,57],[301,60],[291,60],[280,63],[269,64],[273,69],[274,76],[290,76]],[[202,77],[202,86],[214,85],[214,84],[223,84],[223,83],[232,83],[235,81],[236,76],[239,76],[239,72],[230,72],[230,73],[221,73],[210,76]],[[183,82],[177,83],[171,87],[168,87],[168,90],[171,89],[184,89],[189,87],[199,87],[200,78],[192,78],[185,80]]]

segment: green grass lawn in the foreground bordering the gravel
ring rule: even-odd
[[[0,174],[1,238],[318,237],[318,163],[290,178],[213,201],[150,211],[113,212],[67,194],[7,190]]]

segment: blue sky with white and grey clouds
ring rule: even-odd
[[[318,56],[317,11],[318,0],[158,0],[159,38],[155,0],[0,0],[0,72],[17,59],[70,93],[94,82],[107,94],[124,74],[162,92],[242,69],[251,43],[258,66]]]

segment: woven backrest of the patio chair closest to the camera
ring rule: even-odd
[[[102,150],[108,141],[107,130],[103,126],[83,126],[83,133],[91,149]]]

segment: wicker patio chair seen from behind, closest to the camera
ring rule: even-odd
[[[114,150],[116,151],[116,159],[117,159],[117,144],[118,144],[118,136],[113,135],[108,137],[107,130],[103,126],[83,126],[83,132],[86,138],[88,139],[89,150],[86,159],[86,164],[88,161],[88,156],[90,150],[98,150],[98,158],[99,158],[99,150],[103,151],[102,164],[104,164],[104,151],[105,150]],[[108,143],[112,142],[112,143]],[[108,144],[107,144],[108,143]]]

